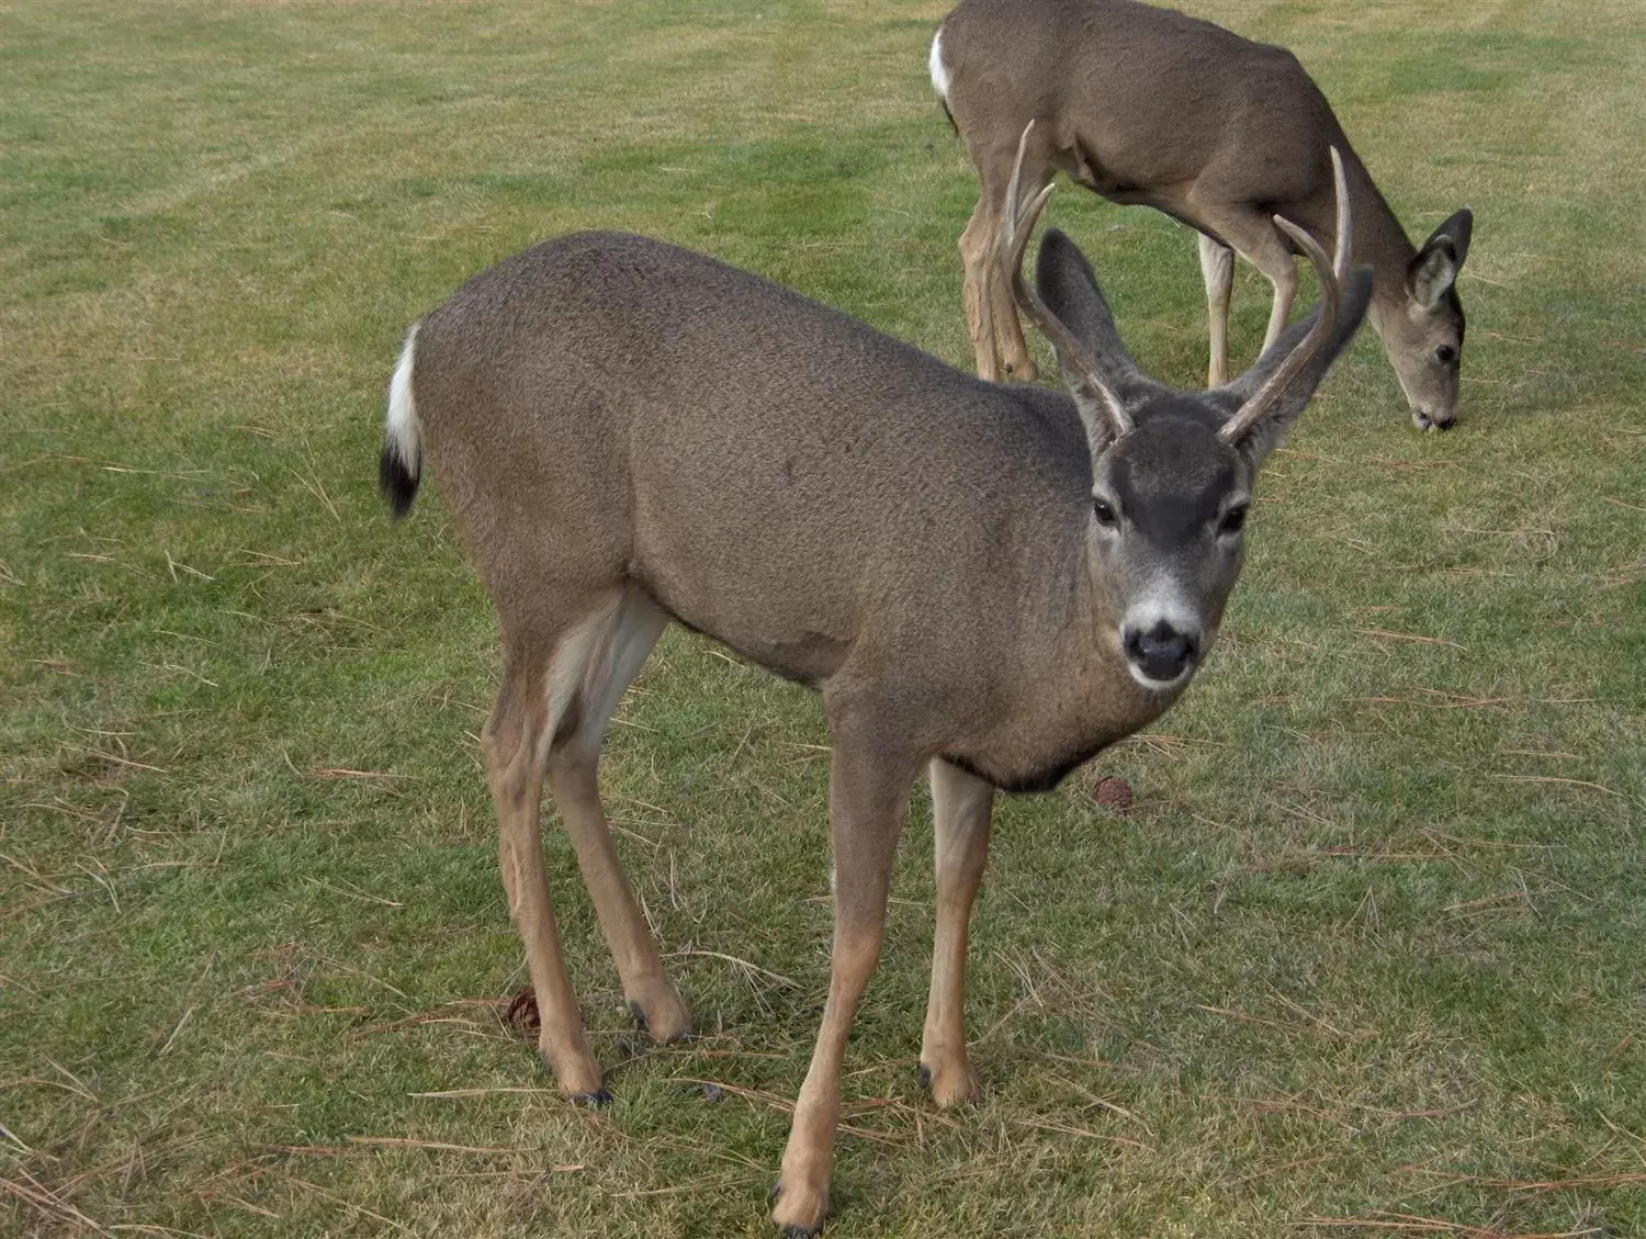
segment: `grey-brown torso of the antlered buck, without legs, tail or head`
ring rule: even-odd
[[[960,676],[1075,576],[1090,457],[1065,397],[662,242],[579,234],[484,271],[421,324],[415,390],[517,609],[570,571],[629,574],[793,680],[866,638]]]

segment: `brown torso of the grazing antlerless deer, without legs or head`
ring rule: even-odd
[[[1332,235],[1325,148],[1348,143],[1286,48],[1131,0],[965,0],[938,41],[979,166],[979,148],[1009,151],[1040,118],[1057,166],[1113,201],[1182,217],[1185,191],[1213,176]]]

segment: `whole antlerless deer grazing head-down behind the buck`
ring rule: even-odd
[[[1151,206],[1198,230],[1211,387],[1228,380],[1234,253],[1274,286],[1269,349],[1297,293],[1297,245],[1272,217],[1322,242],[1333,234],[1327,148],[1335,148],[1356,220],[1351,258],[1373,271],[1371,326],[1412,423],[1452,426],[1463,350],[1455,283],[1473,216],[1457,211],[1412,248],[1325,95],[1286,48],[1136,0],[965,0],[940,23],[928,69],[981,186],[960,239],[981,377],[999,378],[1002,365],[1017,378],[1035,375],[994,265],[1024,122],[1037,122],[1027,184],[1062,169],[1113,202]]]

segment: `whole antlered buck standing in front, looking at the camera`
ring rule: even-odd
[[[1027,135],[1025,135],[1027,142]],[[1360,323],[1348,275],[1241,378],[1142,375],[1058,232],[1012,290],[1070,397],[1001,387],[713,258],[561,237],[474,276],[412,327],[380,482],[403,513],[425,456],[497,606],[507,670],[482,734],[504,887],[540,1051],[604,1102],[566,979],[538,833],[546,773],[637,1020],[688,1032],[601,810],[601,737],[670,619],[823,694],[833,739],[835,944],[774,1219],[828,1206],[841,1056],[881,951],[905,801],[930,768],[937,940],[920,1050],[938,1106],[976,1096],[961,991],[996,788],[1037,791],[1159,717],[1205,658],[1267,451]],[[1345,191],[1340,191],[1343,194]]]

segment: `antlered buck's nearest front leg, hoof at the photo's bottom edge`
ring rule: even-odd
[[[830,1160],[839,1117],[839,1068],[846,1035],[869,974],[881,958],[892,856],[902,829],[914,760],[887,762],[881,744],[835,734],[830,768],[830,834],[835,846],[835,949],[828,1002],[811,1068],[795,1101],[772,1221],[785,1236],[813,1236],[828,1214]]]

